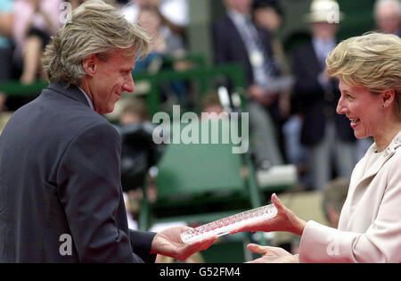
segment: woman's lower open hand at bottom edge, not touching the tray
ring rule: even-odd
[[[282,248],[248,244],[250,252],[261,253],[264,256],[247,263],[299,263],[299,257]]]

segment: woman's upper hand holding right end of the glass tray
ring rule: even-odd
[[[305,225],[304,220],[299,219],[290,209],[287,209],[278,199],[276,194],[272,195],[272,202],[277,209],[277,214],[271,219],[262,219],[257,222],[250,223],[244,227],[239,227],[231,232],[231,234],[244,231],[286,231],[297,236],[302,236]]]

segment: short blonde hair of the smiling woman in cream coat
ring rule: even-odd
[[[342,79],[349,85],[366,87],[373,94],[393,89],[400,113],[400,37],[381,33],[350,37],[329,53],[326,64],[331,77]]]

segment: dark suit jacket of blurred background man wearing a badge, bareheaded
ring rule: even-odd
[[[258,30],[258,36],[261,44],[265,47],[265,52],[269,58],[274,58],[271,48],[271,37],[264,29],[255,27]],[[250,57],[245,43],[242,40],[240,32],[235,27],[233,21],[228,15],[212,25],[213,44],[216,63],[237,62],[244,67],[247,85],[255,83],[253,79],[253,70],[250,65]],[[278,68],[273,63],[274,75],[278,75]]]

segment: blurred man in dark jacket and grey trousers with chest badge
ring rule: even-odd
[[[225,16],[214,22],[213,39],[216,63],[238,62],[244,66],[250,93],[250,128],[257,169],[283,163],[277,136],[280,90],[271,85],[280,76],[272,51],[272,38],[266,29],[251,21],[252,0],[224,0]],[[275,124],[274,124],[275,123]]]

